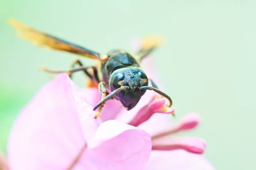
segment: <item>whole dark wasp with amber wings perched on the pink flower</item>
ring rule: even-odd
[[[37,45],[98,60],[98,65],[89,67],[84,66],[80,60],[76,60],[73,63],[73,68],[67,71],[43,69],[49,73],[66,72],[70,77],[74,72],[84,71],[92,82],[98,84],[102,99],[93,108],[94,111],[98,108],[95,118],[103,111],[105,102],[109,99],[117,99],[127,110],[131,110],[137,105],[146,90],[155,91],[166,97],[169,100],[168,107],[172,106],[172,99],[160,91],[154,81],[149,79],[140,67],[141,60],[150,54],[158,46],[158,43],[152,43],[150,40],[145,41],[143,47],[136,55],[120,49],[111,50],[107,54],[100,54],[72,42],[30,28],[14,19],[10,19],[9,23],[17,30],[17,33],[21,37],[35,42]],[[79,64],[79,67],[74,68],[75,64]],[[152,86],[148,86],[149,82],[151,82]]]

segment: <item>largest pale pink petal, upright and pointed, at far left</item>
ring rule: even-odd
[[[81,115],[93,117],[94,112],[78,94],[69,77],[59,74],[35,95],[9,136],[12,170],[64,170],[69,166],[84,146],[84,136],[92,136],[99,125]],[[82,129],[81,122],[90,129]]]

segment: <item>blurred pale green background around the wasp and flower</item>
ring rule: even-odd
[[[256,1],[249,0],[3,0],[0,3],[0,149],[20,109],[49,76],[41,65],[67,69],[77,57],[19,40],[7,24],[29,26],[87,48],[131,50],[130,40],[162,34],[154,52],[160,78],[177,108],[175,121],[200,113],[186,135],[207,140],[205,155],[219,170],[255,170]],[[90,65],[93,60],[83,59]],[[74,81],[83,86],[84,76]],[[171,161],[171,160],[170,160]]]

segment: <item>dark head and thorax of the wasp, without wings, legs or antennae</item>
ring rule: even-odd
[[[146,90],[141,86],[148,85],[148,78],[140,69],[139,63],[130,54],[115,50],[108,53],[108,61],[102,64],[103,81],[108,82],[111,91],[121,86],[129,87],[114,96],[128,110],[134,108]]]

